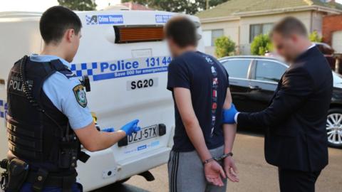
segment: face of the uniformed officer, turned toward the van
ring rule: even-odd
[[[66,31],[66,42],[68,43],[68,45],[66,46],[66,50],[68,50],[66,52],[66,60],[68,62],[73,61],[78,47],[80,46],[81,37],[81,31],[79,31],[77,34],[75,33],[75,30],[73,30],[73,28]]]

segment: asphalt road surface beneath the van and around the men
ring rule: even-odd
[[[227,191],[247,192],[279,191],[277,170],[264,160],[264,138],[259,132],[244,131],[237,134],[234,144],[234,159],[239,169],[239,183],[228,183]],[[167,166],[151,170],[155,181],[147,182],[140,176],[133,176],[123,185],[108,186],[96,192],[147,192],[168,191]],[[329,165],[322,171],[316,184],[316,191],[342,191],[342,149],[329,149]]]

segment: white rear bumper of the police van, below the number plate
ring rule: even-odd
[[[78,166],[78,182],[84,191],[108,186],[167,163],[170,150],[164,146],[122,161],[115,161],[115,154],[110,149],[88,153],[91,156],[89,161]]]

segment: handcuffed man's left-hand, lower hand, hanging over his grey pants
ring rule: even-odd
[[[222,166],[217,161],[204,164],[204,175],[207,181],[214,186],[224,186],[222,178],[226,178],[226,174],[224,174]]]

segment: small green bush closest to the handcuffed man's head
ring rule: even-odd
[[[235,43],[229,37],[222,36],[215,41],[215,54],[218,58],[234,55]]]

